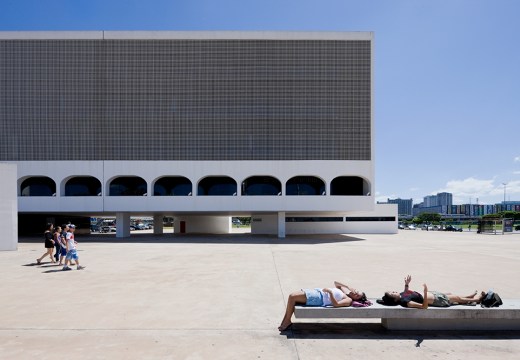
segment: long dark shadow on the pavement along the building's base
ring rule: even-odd
[[[364,241],[365,239],[347,235],[287,235],[283,239],[276,236],[252,234],[132,234],[127,238],[116,238],[115,235],[95,234],[76,237],[80,243],[160,243],[160,244],[297,244],[315,245]],[[43,242],[40,237],[23,237],[20,243]]]

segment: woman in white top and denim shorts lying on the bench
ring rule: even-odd
[[[334,288],[323,289],[301,289],[289,295],[287,299],[287,308],[282,323],[278,326],[278,330],[285,331],[291,325],[291,317],[294,314],[294,307],[298,304],[307,306],[333,306],[348,307],[352,305],[352,301],[366,303],[367,297],[365,293],[354,289],[351,286],[334,281]]]

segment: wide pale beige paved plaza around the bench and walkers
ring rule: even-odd
[[[287,295],[348,282],[520,299],[520,233],[78,236],[83,271],[0,252],[0,359],[517,359],[520,332],[390,332],[374,320],[277,331]],[[489,269],[492,269],[491,271]]]

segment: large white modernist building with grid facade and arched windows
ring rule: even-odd
[[[393,233],[372,94],[370,32],[0,32],[0,162],[20,216],[115,215],[119,237],[135,215]]]

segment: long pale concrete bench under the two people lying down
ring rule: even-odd
[[[455,305],[427,310],[384,306],[312,307],[296,306],[294,316],[300,319],[381,319],[390,330],[520,330],[520,300],[502,300],[498,308],[480,305]]]

